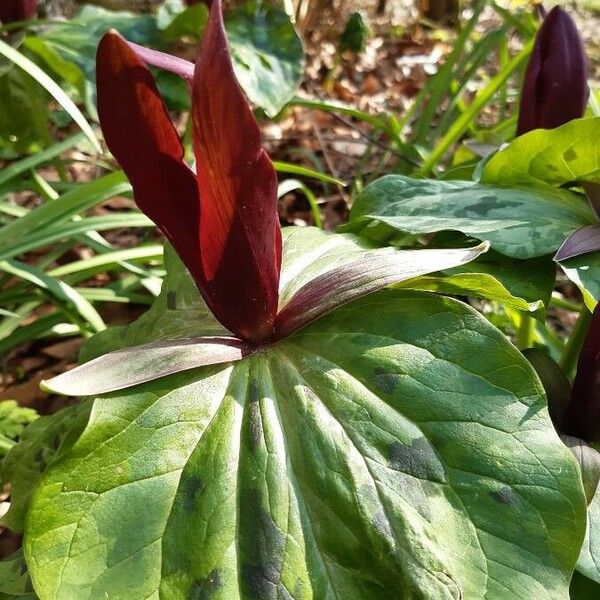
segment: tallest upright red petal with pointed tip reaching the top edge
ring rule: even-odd
[[[277,177],[235,79],[220,0],[196,60],[192,120],[205,298],[230,331],[257,341],[270,334],[277,312]]]

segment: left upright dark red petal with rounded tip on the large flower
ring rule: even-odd
[[[110,151],[133,186],[135,201],[173,244],[198,285],[198,188],[150,71],[116,32],[98,46],[98,114]]]

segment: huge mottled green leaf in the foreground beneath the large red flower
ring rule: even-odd
[[[284,246],[290,287],[303,232]],[[304,233],[311,279],[319,255],[353,253]],[[168,268],[167,294],[185,278]],[[162,323],[190,335],[204,308],[186,294]],[[384,290],[234,364],[94,399],[43,476],[25,551],[42,600],[553,600],[584,514],[528,363],[467,306]]]

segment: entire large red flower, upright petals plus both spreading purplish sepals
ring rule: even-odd
[[[195,170],[183,159],[146,64],[190,84]],[[357,250],[351,242],[354,250],[347,255],[332,250],[330,268],[321,266],[312,275],[308,265],[307,273],[288,272],[280,301],[277,177],[235,80],[221,1],[211,3],[195,65],[109,32],[100,42],[96,69],[102,131],[131,181],[137,205],[174,246],[207,306],[232,335],[198,331],[195,337],[123,348],[42,382],[48,391],[97,395],[241,360],[343,304],[463,265],[489,247],[486,242],[449,250]]]

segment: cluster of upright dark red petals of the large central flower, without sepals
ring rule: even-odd
[[[220,2],[213,3],[195,69],[162,55],[169,64],[161,66],[183,65],[180,74],[191,84],[195,173],[136,50],[146,59],[159,56],[144,54],[116,32],[98,48],[98,113],[106,143],[136,203],[175,247],[215,317],[242,339],[268,338],[281,264],[277,176],[234,76]]]

